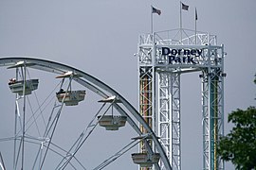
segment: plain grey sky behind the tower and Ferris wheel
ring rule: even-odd
[[[183,1],[183,27],[217,35],[225,45],[225,118],[231,110],[255,106],[256,11],[254,0]],[[0,56],[50,59],[81,69],[126,97],[137,107],[137,38],[150,31],[150,6],[162,11],[154,15],[154,30],[179,26],[177,0],[1,0]],[[0,76],[1,77],[1,76]],[[198,73],[182,76],[182,168],[202,168],[200,79]],[[2,86],[1,86],[2,87]],[[82,115],[84,116],[84,115]],[[68,118],[66,118],[68,120]],[[64,118],[63,118],[63,121]],[[4,124],[5,125],[5,124]],[[3,125],[1,125],[3,126]],[[226,124],[226,132],[230,125]],[[129,128],[119,136],[126,136]],[[105,136],[102,132],[101,137]],[[99,137],[99,139],[101,138]],[[97,138],[97,137],[96,137]],[[107,138],[107,137],[106,137]],[[118,136],[114,137],[115,143]],[[97,146],[94,152],[100,153]],[[122,169],[137,169],[127,154]],[[109,169],[119,169],[109,166]],[[227,169],[231,169],[227,164]]]

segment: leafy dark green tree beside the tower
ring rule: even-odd
[[[228,122],[233,123],[234,127],[220,139],[218,155],[224,161],[231,161],[236,169],[256,170],[256,108],[232,111]]]

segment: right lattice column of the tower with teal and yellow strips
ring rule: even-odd
[[[220,48],[223,50],[223,47]],[[209,67],[202,70],[202,115],[203,115],[203,169],[223,170],[224,162],[217,156],[216,148],[224,134],[224,82],[223,52],[209,46]]]

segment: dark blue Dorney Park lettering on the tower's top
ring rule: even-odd
[[[169,48],[161,47],[161,55],[168,57],[168,63],[190,63],[196,64],[195,57],[200,57],[203,49],[188,49],[188,48]]]

